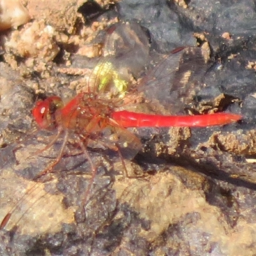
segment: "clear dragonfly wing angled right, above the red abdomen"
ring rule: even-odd
[[[139,92],[158,102],[170,113],[180,113],[200,90],[207,70],[206,52],[187,47],[164,56],[163,60],[140,82]]]

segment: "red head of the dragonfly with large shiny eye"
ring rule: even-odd
[[[45,100],[38,100],[32,115],[41,129],[54,129],[56,127],[55,112],[63,107],[60,97],[52,96]]]

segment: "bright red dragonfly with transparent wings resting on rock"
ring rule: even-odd
[[[234,113],[177,116],[146,114],[122,109],[125,106],[129,106],[129,104],[132,105],[134,100],[140,99],[141,101],[141,97],[147,98],[148,95],[153,96],[153,99],[155,96],[159,97],[165,104],[170,105],[170,83],[168,82],[175,83],[175,81],[178,81],[180,70],[182,69],[179,68],[179,70],[173,71],[173,67],[170,65],[173,61],[174,63],[176,61],[174,67],[177,67],[177,60],[180,61],[184,55],[186,56],[185,60],[189,62],[191,60],[189,57],[191,56],[191,51],[196,53],[196,60],[193,61],[194,65],[199,65],[198,60],[201,62],[204,61],[202,50],[199,48],[189,47],[179,49],[179,51],[166,56],[160,65],[153,68],[152,72],[145,79],[142,79],[139,84],[135,84],[130,88],[125,87],[125,89],[119,89],[119,91],[116,90],[115,86],[109,86],[109,83],[111,83],[109,72],[113,74],[113,68],[115,68],[115,65],[108,65],[109,70],[106,70],[106,63],[111,63],[111,61],[115,63],[115,58],[110,57],[106,59],[108,61],[104,60],[97,65],[95,71],[92,73],[91,82],[88,84],[87,90],[79,93],[67,104],[64,104],[61,98],[57,96],[48,97],[45,100],[36,102],[32,113],[40,129],[56,131],[54,139],[43,150],[52,147],[60,136],[64,134],[58,157],[45,170],[42,170],[38,177],[51,172],[52,168],[61,160],[70,136],[76,140],[84,156],[88,159],[92,167],[93,180],[97,168],[87,150],[88,145],[93,143],[93,141],[97,141],[97,143],[101,143],[105,147],[120,152],[123,157],[127,158],[134,157],[140,150],[140,140],[125,129],[127,127],[207,127],[212,125],[226,125],[240,120],[242,116]],[[182,60],[184,61],[184,59]],[[186,61],[184,62],[185,64]],[[102,77],[102,74],[106,76],[106,79]],[[103,86],[100,85],[102,81],[104,81]],[[121,80],[118,79],[118,81]],[[186,88],[186,86],[179,88],[179,85],[180,83],[174,84],[172,87],[174,89],[173,91],[179,92],[179,94],[176,94],[176,97],[185,97],[191,92],[191,88]],[[113,87],[115,89],[114,96],[109,96],[109,91]],[[141,94],[146,96],[141,96]],[[92,182],[90,182],[90,186],[86,190],[84,201],[87,200],[91,186]],[[11,216],[12,211],[6,214],[4,220],[1,222],[0,228],[6,226]]]

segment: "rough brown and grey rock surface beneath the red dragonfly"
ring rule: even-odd
[[[84,1],[30,1],[34,20],[1,35],[0,220],[12,213],[0,230],[1,255],[255,255],[254,2],[184,2],[106,1],[88,24],[77,12]],[[118,19],[147,29],[152,56],[206,45],[211,65],[188,107],[244,118],[224,127],[131,129],[143,143],[124,159],[131,178],[117,154],[91,148],[97,175],[84,202],[92,166],[76,145],[54,172],[34,179],[62,138],[42,151],[52,134],[33,132],[30,111],[37,97],[67,100],[83,90],[97,63],[88,57],[97,59],[103,29]],[[35,48],[22,39],[28,29]]]

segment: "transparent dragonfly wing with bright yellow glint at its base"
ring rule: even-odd
[[[127,92],[131,79],[140,74],[150,59],[145,31],[136,23],[114,24],[107,29],[103,56],[90,76],[90,92]]]

